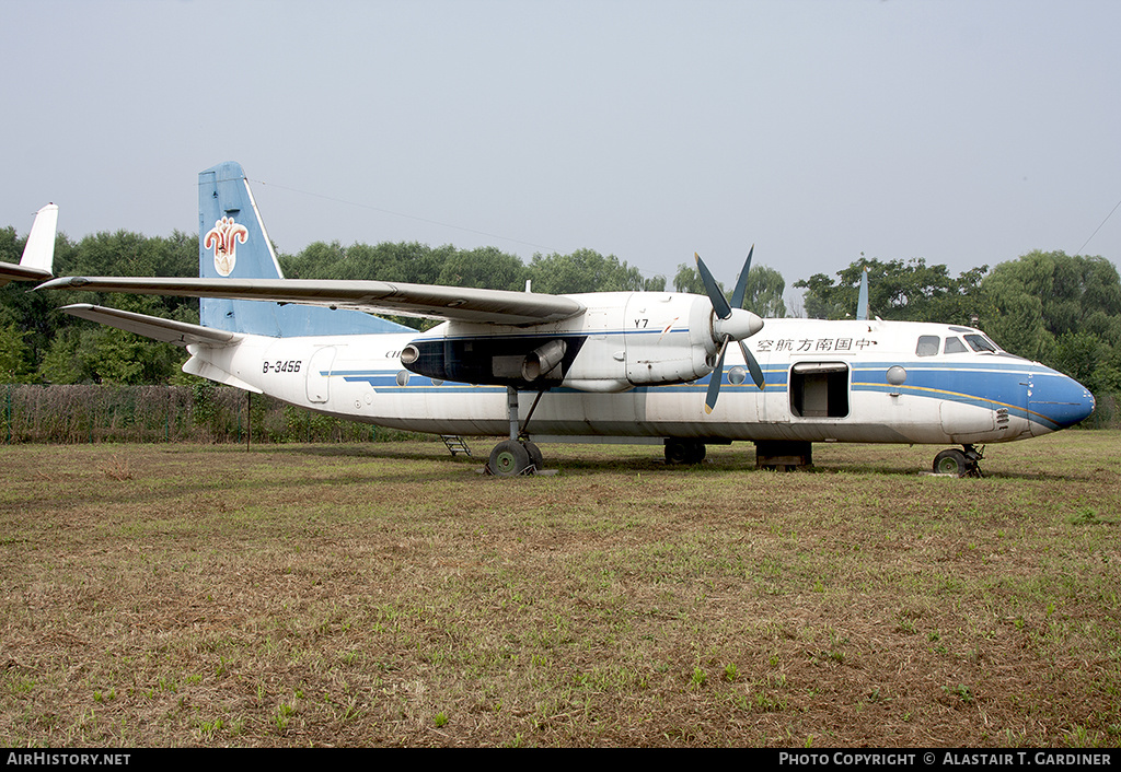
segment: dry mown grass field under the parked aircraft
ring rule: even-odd
[[[1121,432],[937,449],[3,447],[0,746],[1121,745]]]

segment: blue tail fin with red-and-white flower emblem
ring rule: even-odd
[[[198,173],[198,276],[284,278],[240,164],[229,161]],[[272,337],[411,329],[362,311],[262,300],[202,298],[198,315],[206,327]]]

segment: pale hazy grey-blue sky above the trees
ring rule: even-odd
[[[1119,30],[1115,0],[3,0],[0,225],[193,233],[237,160],[286,252],[1117,263]]]

